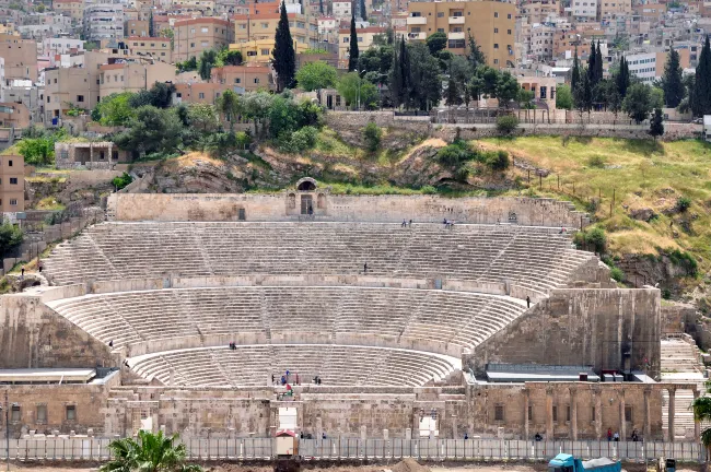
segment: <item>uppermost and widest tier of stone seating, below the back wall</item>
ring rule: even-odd
[[[447,278],[546,291],[593,256],[552,228],[372,223],[104,223],[45,260],[55,284],[209,275]]]

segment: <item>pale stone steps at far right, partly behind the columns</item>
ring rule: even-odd
[[[699,349],[688,334],[678,334],[662,340],[661,346],[662,380],[696,382],[699,391],[706,391],[704,366]],[[674,436],[675,439],[693,439],[693,412],[690,410],[693,401],[691,390],[676,390]],[[667,435],[669,396],[662,392],[662,422],[664,434]]]

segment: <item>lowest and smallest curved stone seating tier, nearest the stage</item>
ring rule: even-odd
[[[171,351],[129,359],[144,378],[187,387],[271,385],[287,370],[291,382],[325,386],[420,387],[461,368],[456,359],[419,351],[351,345],[244,345]]]

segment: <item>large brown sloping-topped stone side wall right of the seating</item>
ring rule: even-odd
[[[477,346],[468,363],[477,373],[487,363],[520,363],[631,368],[656,376],[660,307],[656,288],[553,290],[549,298]]]

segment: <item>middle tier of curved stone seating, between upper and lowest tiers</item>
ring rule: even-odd
[[[525,302],[505,296],[359,286],[168,288],[47,305],[115,349],[143,343],[151,347],[144,352],[166,351],[165,342],[187,337],[234,335],[250,344],[391,345],[461,355],[526,310]]]

